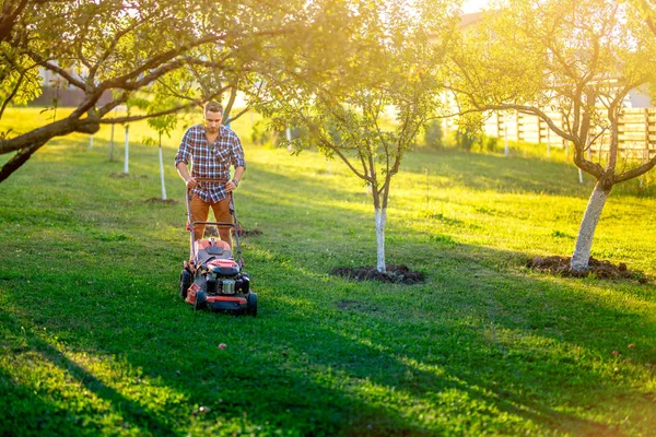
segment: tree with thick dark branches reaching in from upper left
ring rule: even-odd
[[[0,154],[13,153],[0,181],[25,164],[48,140],[72,132],[94,133],[101,123],[165,116],[220,95],[201,95],[180,73],[238,75],[267,69],[296,40],[312,37],[313,15],[330,0],[313,2],[233,2],[210,0],[7,0],[0,14],[0,98],[3,110],[40,92],[38,69],[61,76],[84,98],[66,118],[44,120],[30,132],[4,132]],[[337,19],[331,25],[337,26]],[[279,68],[288,68],[278,62]],[[154,84],[166,84],[154,91]],[[112,110],[134,94],[153,102],[144,114],[112,118]],[[161,108],[168,96],[174,106]],[[109,96],[109,102],[101,97]],[[162,98],[160,98],[162,97]],[[187,102],[181,102],[187,99]],[[155,110],[154,108],[159,109]],[[0,117],[2,113],[0,111]]]

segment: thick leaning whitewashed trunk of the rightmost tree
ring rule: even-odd
[[[588,261],[590,259],[590,250],[593,248],[593,237],[595,236],[595,229],[601,211],[606,204],[606,200],[610,194],[610,189],[602,188],[600,181],[595,186],[595,190],[590,196],[581,227],[578,228],[578,236],[576,237],[576,246],[574,247],[574,253],[572,255],[571,268],[575,272],[584,272],[588,269]]]

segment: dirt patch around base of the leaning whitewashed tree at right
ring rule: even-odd
[[[610,261],[600,261],[590,257],[588,261],[589,269],[584,272],[576,272],[570,267],[571,261],[572,257],[534,257],[528,260],[526,267],[562,276],[584,277],[593,273],[602,280],[629,279],[637,280],[641,283],[647,282],[647,277],[643,273],[626,269],[626,264],[623,262],[616,265]]]

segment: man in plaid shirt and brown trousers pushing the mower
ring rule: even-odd
[[[204,123],[195,125],[185,132],[178,153],[175,155],[175,167],[192,197],[191,222],[207,221],[211,208],[216,222],[233,223],[230,213],[230,193],[237,189],[246,170],[244,149],[235,132],[221,125],[223,120],[221,104],[216,102],[206,104],[203,119]],[[192,163],[191,173],[188,169],[189,160]],[[235,167],[232,179],[231,165]],[[194,226],[196,239],[202,238],[203,232],[204,225]],[[231,227],[220,226],[219,235],[232,247]]]

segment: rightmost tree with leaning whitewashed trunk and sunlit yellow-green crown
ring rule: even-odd
[[[539,117],[573,145],[596,179],[571,267],[588,269],[595,228],[614,185],[656,165],[622,162],[618,127],[628,93],[656,82],[655,39],[645,20],[612,0],[508,0],[462,33],[452,85],[464,114],[517,110]],[[562,126],[547,109],[557,110]],[[549,113],[549,114],[548,114]],[[606,137],[598,160],[586,151]]]

